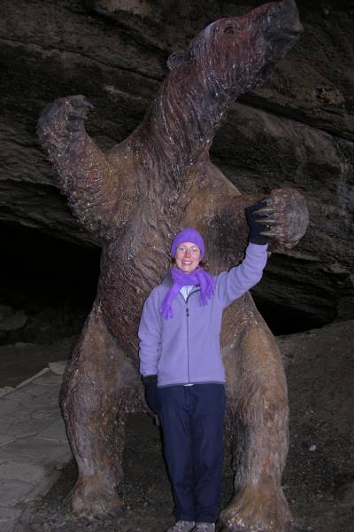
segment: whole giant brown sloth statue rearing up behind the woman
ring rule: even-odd
[[[92,106],[83,96],[59,98],[42,113],[38,135],[58,170],[58,186],[102,245],[96,301],[61,395],[78,466],[67,499],[76,517],[104,518],[121,508],[127,412],[147,411],[137,328],[144,299],[168,268],[173,234],[196,227],[213,273],[242,259],[245,208],[262,196],[241,194],[212,164],[209,148],[228,106],[266,81],[302,31],[294,0],[212,22],[186,51],[173,54],[142,123],[105,153],[85,131]],[[308,223],[304,198],[293,189],[270,192],[260,214],[271,251],[296,246]],[[276,341],[250,293],[225,310],[220,342],[235,457],[235,497],[221,524],[229,532],[285,532],[287,385]]]

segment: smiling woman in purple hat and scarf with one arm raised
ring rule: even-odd
[[[167,532],[212,532],[219,512],[226,375],[222,312],[262,277],[269,229],[246,209],[250,243],[239,266],[217,277],[201,268],[205,249],[193,228],[173,239],[175,266],[145,301],[139,326],[140,371],[158,413],[173,488],[176,523]]]

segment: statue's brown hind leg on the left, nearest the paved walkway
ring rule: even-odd
[[[133,366],[95,305],[65,374],[61,396],[78,468],[76,484],[66,497],[73,517],[104,519],[119,512],[127,404],[138,401],[138,388]]]

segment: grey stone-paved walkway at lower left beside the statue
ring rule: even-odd
[[[17,387],[0,388],[0,532],[16,530],[29,503],[72,458],[58,405],[66,363],[50,363]]]

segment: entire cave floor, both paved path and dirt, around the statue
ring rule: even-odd
[[[354,320],[348,320],[277,339],[289,384],[283,489],[293,514],[292,532],[354,532],[353,330]],[[25,358],[25,347],[19,348]],[[30,369],[32,351],[39,356],[38,349],[27,349]],[[125,512],[112,522],[89,525],[68,518],[63,501],[76,470],[58,408],[66,363],[43,358],[36,367],[48,367],[18,384],[14,361],[20,371],[19,349],[14,352],[17,358],[13,350],[7,358],[4,352],[0,356],[0,377],[13,386],[0,388],[0,532],[158,532],[170,526],[173,500],[160,434],[138,412],[127,419]],[[54,353],[50,356],[54,360]],[[57,356],[63,360],[61,352]],[[223,506],[233,483],[229,445],[226,451]]]

